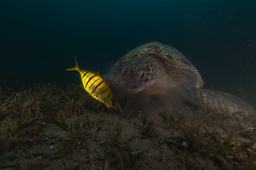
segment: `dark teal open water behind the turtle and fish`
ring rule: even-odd
[[[174,46],[205,87],[256,105],[256,1],[1,1],[0,86],[79,79],[75,66],[110,71],[138,45]]]

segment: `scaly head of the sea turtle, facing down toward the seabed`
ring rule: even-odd
[[[122,76],[128,92],[141,92],[159,78],[158,63],[150,56],[134,58],[123,66]]]

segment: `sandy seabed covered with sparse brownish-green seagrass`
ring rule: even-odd
[[[0,169],[256,169],[255,116],[114,105],[74,84],[0,88]]]

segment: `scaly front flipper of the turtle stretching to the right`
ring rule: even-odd
[[[189,103],[197,107],[209,107],[217,110],[228,108],[229,113],[243,112],[248,116],[255,114],[255,110],[251,105],[240,99],[239,97],[230,95],[226,92],[208,90],[196,87],[185,88],[181,90],[181,96]]]

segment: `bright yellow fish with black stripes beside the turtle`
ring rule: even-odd
[[[93,73],[92,71],[82,70],[79,68],[77,61],[75,67],[67,70],[79,71],[82,88],[84,88],[90,96],[104,103],[107,108],[113,107],[112,91],[109,85],[100,77],[100,73],[98,73],[98,71],[97,73]]]

